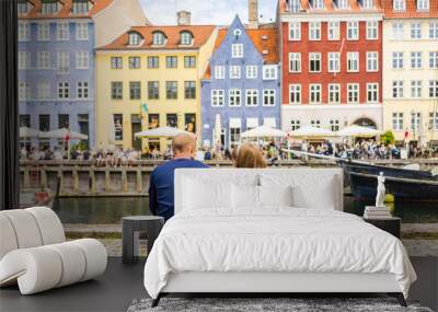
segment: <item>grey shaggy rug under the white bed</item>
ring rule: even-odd
[[[151,308],[151,299],[134,300],[128,312],[433,312],[413,301],[403,308],[393,298],[162,298],[155,308]]]

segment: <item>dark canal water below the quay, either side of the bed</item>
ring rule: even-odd
[[[344,211],[364,215],[366,203],[350,196],[344,197]],[[403,223],[438,223],[438,203],[389,204],[392,213]],[[148,197],[81,197],[59,198],[54,204],[62,223],[111,224],[122,217],[150,215]]]

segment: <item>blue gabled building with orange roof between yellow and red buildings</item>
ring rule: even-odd
[[[249,28],[237,16],[219,31],[215,51],[201,80],[201,141],[222,146],[240,141],[249,129],[280,127],[280,76],[276,28]],[[219,125],[220,124],[220,125]]]

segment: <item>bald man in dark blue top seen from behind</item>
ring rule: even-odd
[[[173,160],[165,162],[152,171],[149,186],[149,208],[154,216],[163,217],[165,221],[174,215],[174,182],[175,169],[208,167],[193,159],[196,151],[196,138],[192,134],[176,136],[172,141]]]

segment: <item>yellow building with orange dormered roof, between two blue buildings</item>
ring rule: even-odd
[[[135,138],[161,126],[200,132],[200,78],[215,26],[137,26],[96,49],[96,145],[164,151],[166,139]]]

